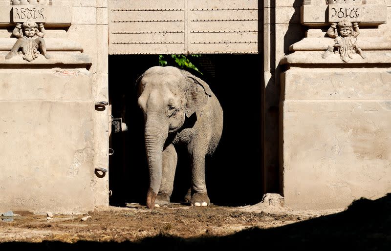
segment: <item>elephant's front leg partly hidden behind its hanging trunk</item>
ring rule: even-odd
[[[162,157],[162,184],[155,200],[155,207],[157,208],[170,204],[170,196],[174,188],[175,168],[178,160],[175,147],[172,144],[167,146],[163,150]]]

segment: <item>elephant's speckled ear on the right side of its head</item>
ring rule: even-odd
[[[209,97],[212,97],[212,91],[208,84],[206,84],[200,78],[197,78],[190,73],[186,75],[189,83],[188,88],[185,90],[186,95],[186,117],[192,116],[193,113],[201,109],[208,102]]]

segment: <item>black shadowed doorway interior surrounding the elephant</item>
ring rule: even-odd
[[[251,205],[261,201],[261,56],[201,55],[191,61],[203,73],[224,111],[223,133],[215,154],[206,157],[206,185],[211,203]],[[128,131],[112,132],[109,157],[110,205],[145,205],[148,166],[144,148],[144,118],[137,106],[136,79],[159,64],[158,55],[110,55],[109,102],[114,119],[122,118]],[[170,62],[169,62],[170,64]],[[115,120],[118,121],[118,120]],[[190,186],[186,151],[177,148],[172,202],[181,202]]]

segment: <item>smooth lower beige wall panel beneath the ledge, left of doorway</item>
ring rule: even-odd
[[[0,211],[93,209],[91,77],[86,69],[1,69]]]

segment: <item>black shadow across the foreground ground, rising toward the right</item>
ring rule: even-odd
[[[391,250],[391,193],[377,200],[360,199],[347,210],[272,229],[248,229],[213,237],[182,239],[158,235],[140,242],[58,241],[0,243],[0,250]]]

